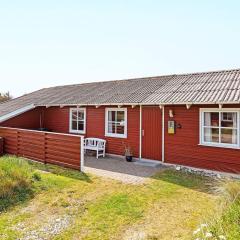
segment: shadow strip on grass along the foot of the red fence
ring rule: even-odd
[[[68,177],[68,178],[72,178],[80,181],[85,181],[88,183],[92,182],[91,178],[87,174],[80,172],[78,170],[64,168],[64,167],[60,167],[52,164],[41,164],[33,161],[29,161],[29,164],[32,165],[35,169],[38,169],[41,171],[50,172],[56,175],[60,175],[60,176],[64,176],[64,177]]]

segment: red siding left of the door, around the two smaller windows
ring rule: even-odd
[[[69,107],[45,109],[44,127],[54,132],[69,133]],[[105,137],[105,107],[86,107],[85,137],[99,137],[107,140],[106,150],[111,154],[124,154],[124,146],[133,149],[139,156],[139,107],[127,107],[127,138]]]

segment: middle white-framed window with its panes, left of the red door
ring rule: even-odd
[[[127,137],[127,109],[106,108],[105,135],[109,137]]]

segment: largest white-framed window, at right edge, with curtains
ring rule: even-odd
[[[201,109],[200,141],[204,145],[239,148],[239,113],[231,109]]]

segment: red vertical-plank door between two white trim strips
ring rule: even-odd
[[[162,111],[159,107],[142,107],[142,157],[162,158]]]

